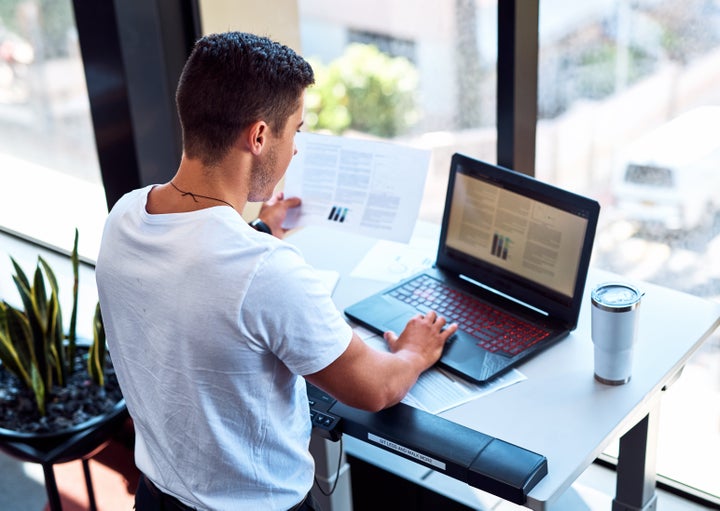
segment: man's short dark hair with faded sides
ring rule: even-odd
[[[305,59],[266,37],[226,32],[199,39],[175,96],[185,154],[213,165],[259,120],[279,133],[314,82]]]

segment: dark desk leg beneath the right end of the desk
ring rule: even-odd
[[[654,511],[659,403],[620,438],[612,511]]]

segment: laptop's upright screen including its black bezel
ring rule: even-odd
[[[591,199],[454,155],[438,267],[551,314],[573,308],[598,213]]]

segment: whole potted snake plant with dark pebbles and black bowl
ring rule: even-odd
[[[23,307],[0,302],[0,448],[20,442],[46,450],[118,418],[126,413],[125,402],[107,354],[99,304],[93,339],[76,335],[77,229],[70,257],[74,282],[67,332],[50,265],[38,256],[30,279],[11,260]]]

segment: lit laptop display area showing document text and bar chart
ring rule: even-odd
[[[446,245],[572,296],[588,220],[458,173]]]

